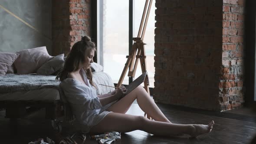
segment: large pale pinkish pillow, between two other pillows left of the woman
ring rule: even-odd
[[[20,56],[16,59],[14,65],[18,75],[36,72],[38,68],[53,57],[48,54],[46,46],[25,49],[17,53]]]

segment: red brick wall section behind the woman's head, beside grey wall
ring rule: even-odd
[[[53,0],[52,3],[53,55],[67,54],[81,36],[90,36],[91,1]]]

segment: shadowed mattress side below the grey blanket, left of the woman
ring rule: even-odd
[[[0,93],[0,101],[57,101],[59,99],[59,91],[54,88]]]

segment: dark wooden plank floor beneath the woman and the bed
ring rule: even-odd
[[[167,118],[178,124],[207,124],[214,120],[215,125],[210,134],[190,139],[181,137],[158,137],[143,131],[132,131],[121,134],[121,141],[116,144],[249,144],[256,135],[255,115],[233,113],[216,113],[196,109],[178,108],[158,104]],[[132,104],[128,114],[144,115],[138,104]],[[44,111],[18,120],[18,135],[10,135],[9,119],[4,118],[5,111],[0,111],[0,144],[28,144],[37,138],[54,137],[50,121],[44,118]],[[67,129],[64,129],[68,133]],[[71,134],[71,133],[70,133]],[[86,140],[86,144],[96,144],[94,140]]]

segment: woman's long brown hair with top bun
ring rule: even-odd
[[[56,80],[62,82],[64,79],[67,79],[70,72],[75,72],[80,69],[80,65],[85,62],[85,56],[92,50],[96,51],[95,43],[91,41],[89,36],[82,36],[82,39],[72,46],[72,49],[65,60],[64,67],[56,76]],[[90,84],[95,87],[92,82],[92,69],[89,68],[85,70],[85,73]]]

